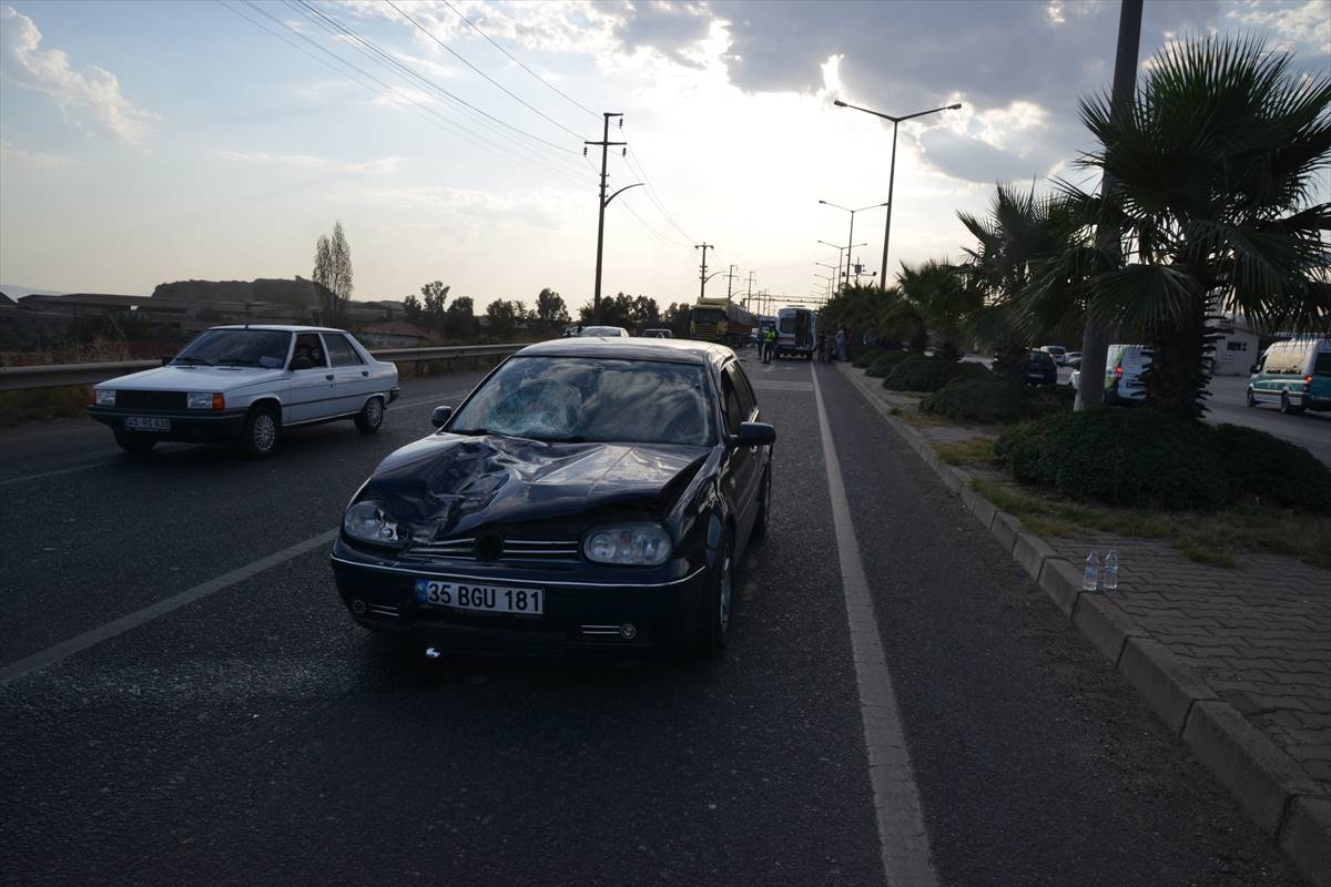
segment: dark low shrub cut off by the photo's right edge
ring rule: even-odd
[[[1311,452],[1264,431],[1206,428],[1211,452],[1225,465],[1235,499],[1331,513],[1331,468]]]

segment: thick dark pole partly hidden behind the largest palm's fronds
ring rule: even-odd
[[[1127,113],[1133,101],[1133,88],[1137,85],[1137,56],[1142,41],[1142,0],[1122,0],[1118,11],[1118,49],[1114,57],[1114,90],[1110,94],[1110,113],[1114,117]],[[1109,209],[1118,182],[1106,174],[1099,185],[1101,206]],[[1122,231],[1109,221],[1109,213],[1101,217],[1095,226],[1097,246],[1118,254]],[[1087,295],[1087,307],[1095,294]],[[1099,410],[1105,404],[1105,363],[1109,358],[1109,330],[1095,323],[1091,311],[1086,311],[1086,326],[1082,330],[1082,368],[1077,383],[1077,400],[1073,410]]]

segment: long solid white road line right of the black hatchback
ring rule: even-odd
[[[851,624],[851,653],[855,658],[855,682],[860,692],[860,718],[864,745],[869,753],[869,782],[873,809],[878,821],[878,843],[888,884],[934,887],[938,876],[929,854],[929,835],[924,827],[920,791],[916,789],[910,751],[906,749],[897,713],[897,694],[882,654],[882,636],[873,614],[873,597],[860,560],[860,541],[851,520],[851,507],[841,483],[841,464],[832,442],[827,408],[819,376],[813,378],[813,399],[819,407],[819,431],[823,457],[827,461],[828,493],[832,496],[832,527],[836,531],[841,586],[845,589],[845,614]]]

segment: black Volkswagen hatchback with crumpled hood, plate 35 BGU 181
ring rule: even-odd
[[[357,491],[333,572],[358,624],[443,650],[725,646],[772,443],[727,347],[544,342]]]

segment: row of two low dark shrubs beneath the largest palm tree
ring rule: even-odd
[[[1259,500],[1331,513],[1331,468],[1307,449],[1154,410],[1049,415],[1005,428],[994,453],[1017,480],[1082,501],[1213,512]]]

